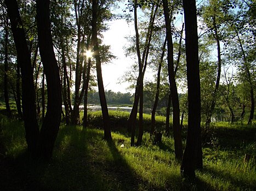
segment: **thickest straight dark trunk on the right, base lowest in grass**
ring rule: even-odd
[[[185,46],[189,121],[186,147],[180,171],[184,176],[195,177],[195,169],[202,168],[201,99],[198,61],[196,1],[183,0],[185,17]]]

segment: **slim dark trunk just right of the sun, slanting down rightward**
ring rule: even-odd
[[[99,44],[97,37],[97,16],[98,16],[98,1],[93,0],[93,16],[92,16],[92,44],[94,48],[94,57],[96,59],[96,72],[97,72],[97,80],[98,80],[98,88],[99,88],[99,96],[100,96],[100,105],[101,111],[103,114],[103,126],[104,126],[104,139],[108,141],[112,141],[111,130],[110,130],[110,119],[109,119],[109,111],[107,110],[107,102],[105,97],[104,85],[103,85],[103,77],[101,73],[101,62],[100,62],[100,52],[99,52]]]

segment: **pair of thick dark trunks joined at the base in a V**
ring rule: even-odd
[[[53,51],[50,34],[49,1],[37,1],[37,24],[39,46],[47,78],[48,104],[47,114],[41,130],[36,118],[35,86],[29,48],[22,25],[18,3],[15,0],[5,1],[10,18],[18,60],[22,76],[22,110],[26,131],[27,149],[33,157],[49,159],[56,135],[58,134],[61,116],[61,89],[59,69]]]

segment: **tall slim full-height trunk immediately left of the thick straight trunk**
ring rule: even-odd
[[[181,160],[182,158],[182,142],[181,142],[181,129],[180,129],[180,107],[178,90],[175,81],[174,74],[174,61],[173,61],[173,40],[172,40],[172,29],[170,27],[170,15],[168,8],[168,1],[163,0],[163,11],[164,20],[166,22],[166,37],[168,47],[168,76],[170,83],[170,91],[172,92],[172,104],[173,104],[173,135],[174,135],[174,147],[175,147],[175,158]]]

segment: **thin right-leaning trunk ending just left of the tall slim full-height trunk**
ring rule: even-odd
[[[157,83],[156,96],[155,96],[155,102],[153,104],[153,109],[151,112],[151,134],[153,134],[153,132],[155,132],[155,123],[156,123],[155,116],[156,116],[156,108],[157,108],[157,103],[158,103],[159,93],[160,93],[161,68],[162,68],[163,57],[164,57],[164,53],[165,53],[165,49],[166,49],[166,43],[167,43],[167,38],[164,39],[162,54],[161,54],[160,62],[158,65],[157,82],[156,82]]]

